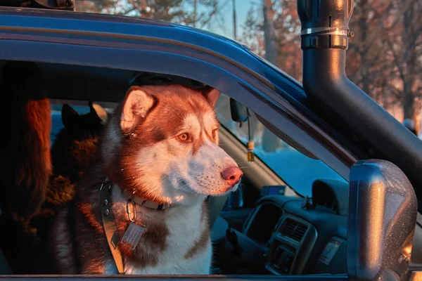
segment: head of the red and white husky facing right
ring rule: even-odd
[[[110,178],[134,196],[171,204],[236,190],[243,173],[218,145],[218,96],[178,85],[132,86],[103,138]]]

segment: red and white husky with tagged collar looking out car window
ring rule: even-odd
[[[58,271],[209,274],[207,195],[243,175],[218,145],[219,92],[132,86],[101,137],[101,162],[60,211]]]

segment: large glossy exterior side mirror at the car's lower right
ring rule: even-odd
[[[350,280],[401,280],[409,270],[418,205],[395,164],[370,159],[350,171],[347,272]]]

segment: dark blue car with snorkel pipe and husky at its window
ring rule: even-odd
[[[324,25],[318,17],[337,8],[347,26],[351,11],[335,1],[340,6],[324,4],[312,18],[308,2],[298,2],[303,85],[246,46],[203,30],[36,8],[0,7],[0,66],[30,61],[44,72],[52,141],[63,103],[83,113],[94,100],[112,112],[145,77],[221,91],[221,147],[241,159],[246,180],[229,200],[210,198],[212,273],[220,278],[417,278],[422,142],[347,80],[348,34],[315,33]],[[236,118],[245,108],[250,114]],[[257,144],[254,161],[248,141]],[[1,255],[0,263],[7,265]],[[177,276],[162,278],[170,277]]]

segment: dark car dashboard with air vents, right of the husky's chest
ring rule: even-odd
[[[248,274],[347,273],[347,196],[347,183],[317,180],[312,200],[283,195],[260,198],[243,229],[231,230],[237,245],[229,242],[226,247],[241,251],[229,247],[224,262]]]

